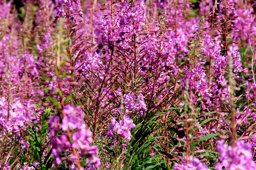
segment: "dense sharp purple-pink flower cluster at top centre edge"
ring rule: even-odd
[[[122,3],[118,15],[114,18],[102,18],[102,42],[109,45],[117,42],[119,45],[129,46],[127,42],[131,41],[134,34],[138,35],[141,32],[141,27],[145,22],[146,6],[144,1],[141,0],[134,6],[126,1]]]

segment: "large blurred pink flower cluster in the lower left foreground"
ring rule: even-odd
[[[63,108],[63,113],[64,116],[61,121],[59,116],[52,117],[49,126],[50,134],[52,135],[52,153],[55,156],[55,163],[60,164],[60,155],[68,151],[71,152],[70,159],[75,163],[77,159],[80,159],[80,155],[93,159],[96,165],[99,165],[100,159],[95,157],[98,147],[90,146],[92,132],[86,128],[82,110],[73,105],[66,105]],[[55,133],[60,130],[65,131],[65,133],[60,137],[55,136]],[[73,149],[79,150],[79,153],[76,153]]]

